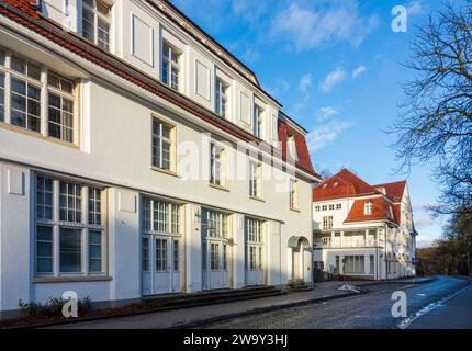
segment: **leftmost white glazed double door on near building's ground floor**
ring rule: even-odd
[[[180,239],[146,235],[142,250],[143,295],[181,292]]]

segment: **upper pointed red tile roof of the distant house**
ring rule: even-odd
[[[333,200],[361,195],[381,194],[375,188],[347,169],[325,180],[313,189],[313,200]]]

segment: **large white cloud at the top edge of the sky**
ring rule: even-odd
[[[284,36],[297,50],[342,41],[359,45],[379,24],[375,15],[359,14],[355,0],[325,1],[317,9],[302,9],[291,3],[280,11],[271,26],[274,36]]]

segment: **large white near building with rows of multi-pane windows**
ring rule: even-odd
[[[1,1],[0,312],[310,283],[318,177],[280,110],[167,1]]]

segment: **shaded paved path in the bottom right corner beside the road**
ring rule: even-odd
[[[472,285],[434,306],[408,329],[472,329]]]

